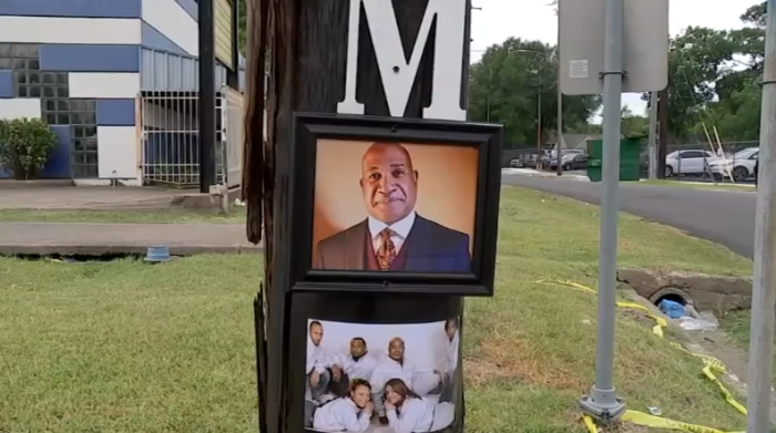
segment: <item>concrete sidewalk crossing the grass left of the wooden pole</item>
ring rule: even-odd
[[[175,256],[262,250],[246,240],[244,225],[0,224],[0,255],[145,254],[151,246],[167,246]]]

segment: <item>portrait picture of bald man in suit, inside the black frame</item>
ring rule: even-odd
[[[318,140],[313,268],[469,274],[479,151]]]

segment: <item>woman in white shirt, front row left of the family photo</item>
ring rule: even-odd
[[[350,382],[347,396],[333,400],[315,411],[313,429],[318,432],[364,433],[369,429],[372,409],[369,382],[355,379]]]

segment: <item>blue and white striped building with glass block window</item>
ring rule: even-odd
[[[236,8],[216,8],[232,12],[223,24],[216,11],[216,85],[239,87]],[[57,133],[41,177],[142,184],[141,111],[172,110],[149,94],[197,91],[197,45],[195,0],[0,0],[0,118],[40,117]]]

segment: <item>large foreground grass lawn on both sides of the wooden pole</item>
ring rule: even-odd
[[[593,382],[598,209],[504,187],[496,297],[467,300],[467,431],[581,433]],[[678,230],[621,218],[620,264],[745,275],[751,262]],[[0,432],[255,432],[255,256],[162,266],[0,259]],[[585,324],[591,323],[591,324]],[[620,312],[629,408],[742,430],[697,359]]]

